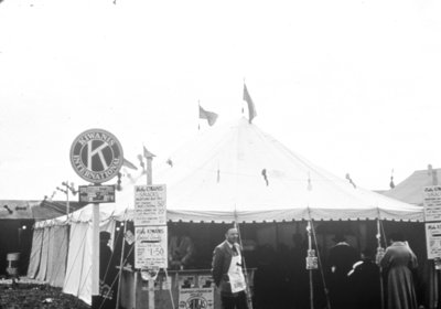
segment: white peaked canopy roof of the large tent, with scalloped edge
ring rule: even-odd
[[[198,135],[170,159],[154,182],[168,184],[171,220],[421,220],[420,207],[354,188],[245,118]]]

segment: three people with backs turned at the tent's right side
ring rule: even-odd
[[[418,308],[413,276],[417,257],[402,234],[389,236],[390,245],[380,257],[379,266],[372,251],[363,251],[358,260],[357,252],[343,236],[334,241],[336,245],[330,249],[327,260],[332,308],[375,309],[381,308],[381,301],[388,309]]]

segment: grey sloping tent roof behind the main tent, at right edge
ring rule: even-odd
[[[428,169],[415,171],[407,179],[398,183],[394,189],[383,194],[406,203],[420,205],[423,203],[423,188],[438,183],[441,179],[441,169]]]

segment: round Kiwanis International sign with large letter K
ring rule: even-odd
[[[72,143],[71,163],[76,173],[93,183],[103,183],[119,172],[123,162],[122,147],[110,132],[90,129]]]

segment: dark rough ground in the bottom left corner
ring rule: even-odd
[[[22,278],[17,285],[12,280],[0,280],[0,308],[72,308],[90,309],[80,299],[63,294],[61,288],[42,285]]]

